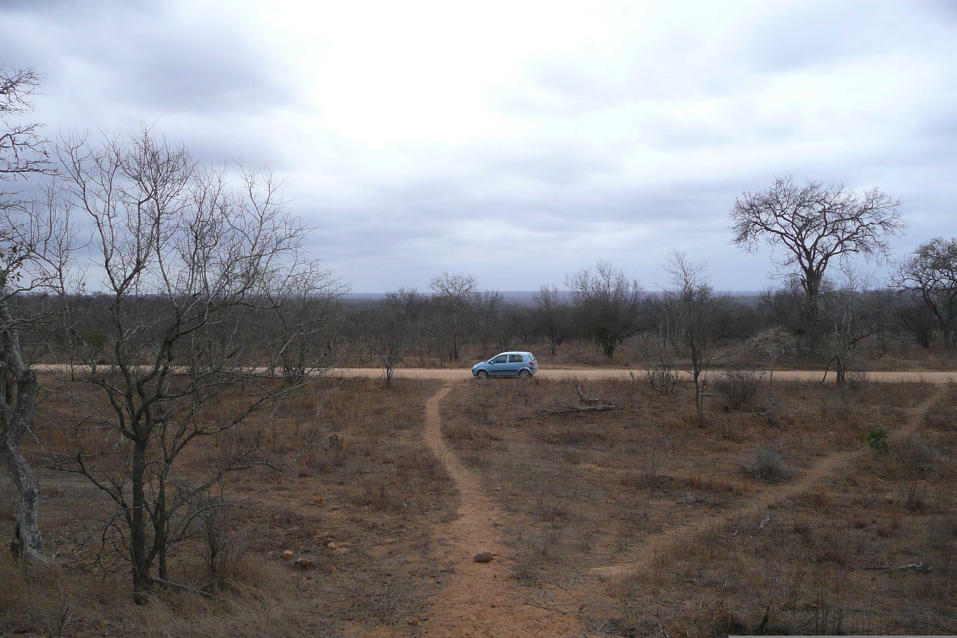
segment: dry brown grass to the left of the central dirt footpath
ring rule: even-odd
[[[177,546],[170,558],[170,578],[204,595],[158,587],[155,600],[133,605],[122,539],[115,530],[102,533],[111,503],[81,477],[42,472],[41,527],[55,566],[24,569],[0,555],[7,585],[0,625],[39,635],[158,638],[404,627],[441,586],[436,580],[446,567],[433,558],[431,530],[455,510],[450,477],[421,441],[424,404],[436,387],[395,380],[387,390],[375,380],[323,380],[290,400],[266,432],[271,453],[295,451],[318,410],[322,436],[315,448],[286,473],[265,468],[227,476],[221,488],[235,506],[215,520],[216,538],[227,547],[216,558],[215,578],[204,535]],[[233,409],[223,401],[204,418],[225,418]],[[41,410],[41,440],[49,448],[71,445],[74,434],[62,426],[76,422],[78,405],[54,394]],[[102,436],[81,434],[88,445],[106,445]],[[207,472],[231,444],[203,442],[184,457],[181,471]],[[2,493],[0,534],[9,537],[11,486]],[[329,542],[338,546],[330,549]],[[315,569],[281,560],[286,550]]]

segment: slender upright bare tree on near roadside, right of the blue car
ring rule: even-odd
[[[665,263],[672,286],[661,303],[681,350],[688,358],[688,372],[695,384],[695,409],[704,418],[704,386],[714,358],[714,346],[726,335],[731,321],[730,299],[715,297],[706,274],[707,264],[690,261],[683,253],[672,253]]]

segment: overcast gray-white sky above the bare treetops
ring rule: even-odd
[[[0,0],[36,118],[269,165],[358,292],[531,290],[670,250],[768,285],[727,213],[774,176],[882,187],[957,234],[957,3]]]

